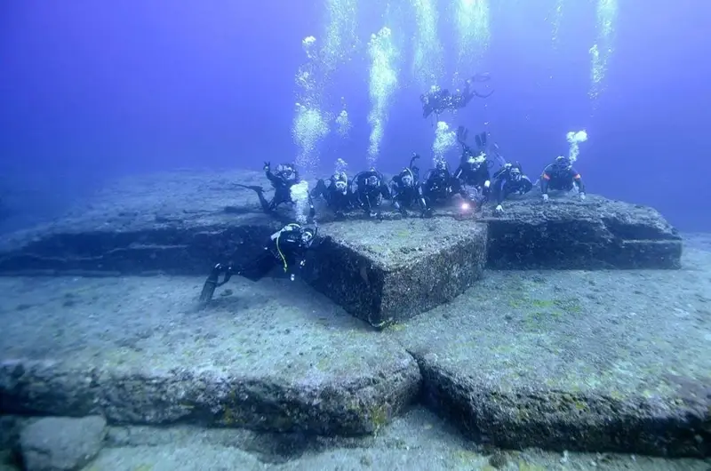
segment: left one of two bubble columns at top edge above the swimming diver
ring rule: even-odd
[[[437,37],[436,0],[411,0],[417,30],[412,43],[412,74],[422,89],[436,84],[443,75],[443,49]]]

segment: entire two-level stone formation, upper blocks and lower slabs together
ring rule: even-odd
[[[666,332],[634,314],[662,323],[705,301],[624,292],[611,308],[596,298],[611,276],[583,292],[579,270],[681,267],[681,237],[651,208],[532,195],[498,217],[402,219],[387,202],[380,221],[319,212],[302,277],[324,296],[236,277],[193,312],[212,264],[239,265],[291,222],[236,181],[268,188],[258,172],[134,178],[4,240],[0,275],[52,276],[0,277],[0,413],[360,435],[421,399],[512,448],[711,452],[711,331],[692,315]],[[520,271],[539,268],[576,271]],[[579,299],[558,299],[571,277]]]

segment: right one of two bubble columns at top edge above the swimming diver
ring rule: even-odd
[[[457,29],[457,72],[470,76],[489,48],[489,0],[455,0],[454,24]]]

